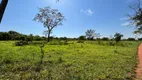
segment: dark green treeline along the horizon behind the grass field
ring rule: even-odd
[[[80,36],[78,38],[67,38],[67,37],[50,37],[51,40],[56,39],[56,40],[89,40],[86,38],[86,36]],[[16,31],[8,31],[8,32],[0,32],[0,40],[5,41],[5,40],[23,40],[23,41],[41,41],[41,40],[47,40],[46,37],[41,37],[39,35],[25,35],[21,34]],[[103,40],[103,41],[109,41],[113,40],[108,37],[103,37],[103,38],[96,38],[92,40]],[[127,39],[122,39],[123,41],[135,41],[135,38],[127,38]],[[142,38],[138,38],[137,40],[142,40]]]

